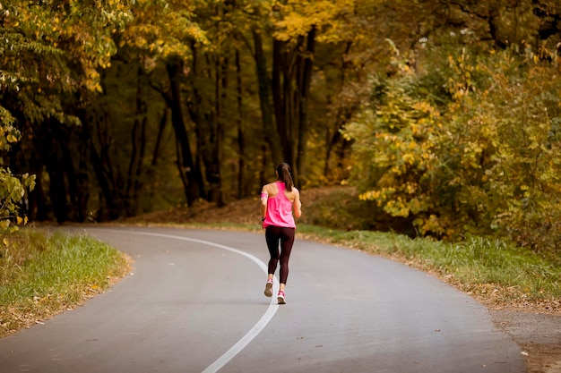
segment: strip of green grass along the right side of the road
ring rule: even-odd
[[[338,244],[393,257],[413,267],[435,272],[467,292],[496,292],[493,301],[561,301],[561,263],[507,242],[467,237],[463,242],[440,242],[396,233],[338,231],[299,225],[299,233],[322,242]],[[488,298],[488,296],[487,296]]]

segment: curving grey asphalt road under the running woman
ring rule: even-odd
[[[487,309],[388,259],[297,233],[279,306],[263,295],[263,233],[88,232],[129,253],[133,272],[0,339],[1,373],[525,372]]]

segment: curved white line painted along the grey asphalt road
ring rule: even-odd
[[[98,229],[96,229],[96,230],[98,230]],[[115,233],[143,234],[143,235],[170,238],[170,239],[182,240],[182,241],[188,241],[188,242],[203,243],[205,245],[214,246],[214,247],[217,247],[217,248],[220,248],[220,249],[223,249],[223,250],[229,250],[229,251],[235,252],[236,254],[239,254],[239,255],[243,255],[244,257],[253,260],[257,264],[257,266],[259,266],[261,269],[263,269],[263,272],[265,274],[267,274],[267,272],[269,271],[269,268],[267,268],[267,266],[265,266],[263,261],[256,258],[255,256],[253,256],[251,254],[248,254],[248,253],[246,253],[245,251],[242,251],[242,250],[237,250],[237,249],[234,249],[234,248],[230,248],[229,246],[220,245],[220,243],[197,240],[197,239],[188,238],[188,237],[181,237],[181,236],[176,236],[176,235],[173,235],[173,234],[147,233],[147,232],[134,232],[134,231],[119,231],[119,230],[112,230],[112,229],[111,230],[100,229],[100,230],[107,231],[107,232],[115,232]],[[279,284],[279,280],[276,277],[275,277],[275,284]],[[276,289],[275,289],[275,292],[276,292]],[[277,312],[277,309],[279,309],[279,305],[276,304],[274,302],[274,300],[275,300],[275,298],[272,297],[271,303],[269,304],[269,308],[264,313],[263,317],[260,318],[259,321],[257,321],[255,326],[253,326],[249,330],[249,332],[247,332],[246,335],[244,335],[239,341],[237,341],[237,343],[234,344],[227,352],[224,352],[224,354],[222,356],[220,356],[220,358],[218,358],[211,365],[209,365],[209,367],[207,369],[204,369],[202,373],[216,373],[216,372],[218,372],[223,366],[225,366],[229,362],[229,360],[232,360],[239,352],[241,352],[246,347],[246,345],[248,343],[250,343],[255,338],[255,336],[257,336],[263,330],[263,328],[265,326],[267,326],[267,324],[269,324],[269,321],[271,321],[272,317]]]

